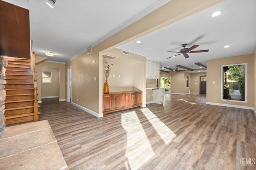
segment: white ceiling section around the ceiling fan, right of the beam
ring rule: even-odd
[[[193,63],[206,66],[206,61],[210,59],[252,54],[256,47],[255,9],[255,0],[226,0],[118,48],[159,61],[160,67],[176,68],[175,65],[182,65],[192,69],[199,68]],[[212,17],[212,13],[218,10],[222,10],[222,14]],[[137,44],[137,40],[142,43]],[[187,59],[183,55],[166,59],[179,54],[166,51],[179,51],[184,43],[188,44],[188,48],[200,45],[192,51],[209,51],[190,53]],[[225,45],[230,47],[225,49]]]

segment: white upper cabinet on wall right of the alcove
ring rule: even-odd
[[[159,78],[160,64],[154,61],[146,60],[146,78]]]

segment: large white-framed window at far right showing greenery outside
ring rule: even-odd
[[[247,102],[247,64],[221,66],[221,100]]]

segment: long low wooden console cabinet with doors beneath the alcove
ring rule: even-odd
[[[142,107],[142,92],[112,92],[103,94],[103,115],[114,111]]]

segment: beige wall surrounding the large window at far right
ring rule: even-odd
[[[253,55],[242,55],[236,57],[226,57],[221,59],[214,59],[207,61],[207,89],[206,89],[206,102],[229,104],[237,106],[253,106],[254,99],[254,63]],[[234,102],[220,100],[220,82],[221,82],[221,66],[228,64],[247,63],[247,102]],[[212,84],[215,81],[216,84]]]

